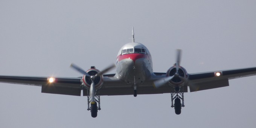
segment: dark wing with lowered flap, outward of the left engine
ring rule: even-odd
[[[0,82],[41,86],[42,93],[81,96],[81,78],[55,77],[53,83],[48,81],[49,78],[50,77],[0,76]]]

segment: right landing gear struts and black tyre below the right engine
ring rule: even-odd
[[[175,99],[175,100],[174,100]],[[172,105],[171,107],[175,109],[175,113],[178,115],[181,113],[181,107],[185,107],[184,105],[184,93],[171,93],[171,100],[172,100]],[[173,104],[174,100],[174,104]],[[182,104],[181,101],[182,100]]]

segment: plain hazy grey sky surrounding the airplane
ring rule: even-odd
[[[255,0],[1,0],[0,75],[79,77],[72,62],[99,70],[135,40],[166,72],[182,49],[188,73],[256,66]],[[110,73],[114,73],[114,70]],[[0,127],[254,128],[256,76],[229,87],[185,93],[176,115],[171,94],[101,96],[97,118],[87,98],[41,93],[41,87],[0,83]]]

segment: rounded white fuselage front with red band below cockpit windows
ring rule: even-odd
[[[149,50],[141,43],[127,43],[119,50],[115,77],[130,83],[143,83],[153,73]]]

